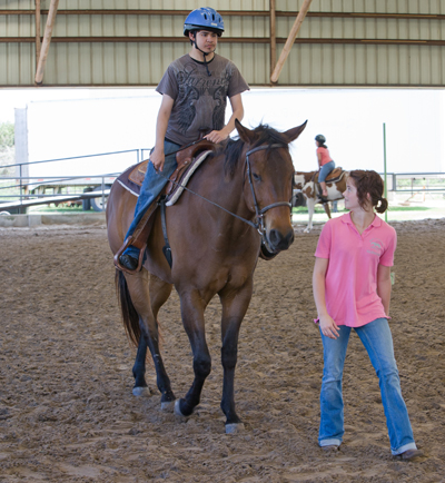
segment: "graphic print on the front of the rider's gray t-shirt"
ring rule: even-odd
[[[179,129],[222,129],[226,114],[226,96],[229,72],[219,79],[196,77],[195,68],[177,72],[179,92],[176,103],[179,110]],[[199,112],[199,114],[198,114]]]

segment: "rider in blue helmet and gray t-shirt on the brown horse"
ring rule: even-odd
[[[126,239],[134,234],[175,171],[176,151],[199,139],[202,132],[212,142],[224,141],[235,129],[235,119],[244,117],[241,92],[249,86],[234,62],[215,53],[222,32],[222,18],[211,8],[196,9],[185,21],[184,34],[190,39],[191,50],[170,63],[156,88],[162,95],[156,145]],[[227,98],[233,114],[225,125]],[[130,245],[119,257],[119,263],[128,270],[135,270],[138,258],[139,249]]]

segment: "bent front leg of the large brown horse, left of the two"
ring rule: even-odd
[[[211,371],[211,357],[206,342],[205,304],[198,290],[180,294],[182,324],[194,353],[195,379],[184,398],[175,404],[178,416],[189,416],[199,404],[204,383]]]

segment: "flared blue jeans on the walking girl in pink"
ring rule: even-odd
[[[352,328],[339,326],[336,339],[322,334],[324,362],[320,393],[320,426],[318,444],[320,446],[339,445],[345,433],[342,379],[346,349]],[[365,346],[377,373],[383,407],[388,427],[393,455],[407,450],[416,450],[408,412],[402,397],[400,379],[394,358],[393,337],[386,318],[355,328]],[[320,332],[322,333],[322,332]]]

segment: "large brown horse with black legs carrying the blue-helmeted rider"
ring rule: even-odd
[[[161,408],[175,406],[175,413],[184,417],[192,413],[211,368],[204,313],[218,294],[222,306],[221,410],[227,433],[243,427],[234,401],[239,327],[253,295],[253,276],[261,248],[275,255],[294,241],[289,203],[294,167],[288,144],[305,127],[306,122],[286,132],[267,126],[249,130],[237,121],[239,139],[220,146],[192,175],[179,200],[166,209],[171,268],[162,253],[165,238],[158,213],[142,269],[135,275],[117,272],[123,324],[138,345],[132,368],[135,395],[148,393],[145,379],[148,347],[161,393]],[[108,239],[113,254],[123,243],[135,205],[136,196],[115,183],[107,204]],[[172,285],[180,297],[195,373],[190,390],[177,401],[159,352],[157,323],[159,308],[168,299]]]

